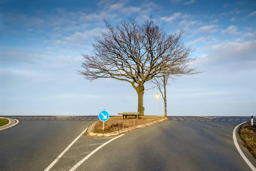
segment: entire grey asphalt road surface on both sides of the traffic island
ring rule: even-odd
[[[23,117],[30,118],[16,118],[20,125],[0,131],[0,170],[44,171],[94,119]],[[125,133],[96,151],[76,171],[251,171],[232,138],[236,125],[249,121],[250,116],[168,118]],[[50,171],[69,171],[110,139],[81,136]],[[251,154],[240,147],[256,166]]]

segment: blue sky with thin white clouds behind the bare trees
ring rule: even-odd
[[[169,34],[183,40],[206,71],[170,81],[168,115],[256,114],[256,2],[253,0],[3,0],[0,6],[0,115],[111,115],[137,111],[130,83],[111,78],[87,81],[81,53],[93,35],[128,17],[139,23],[152,14]],[[145,84],[145,88],[150,84]],[[157,102],[146,90],[146,115]],[[158,113],[164,114],[163,99]]]

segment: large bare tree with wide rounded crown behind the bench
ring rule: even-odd
[[[138,112],[143,113],[144,83],[160,73],[183,74],[193,72],[188,63],[196,61],[193,50],[184,45],[183,31],[168,35],[150,17],[142,24],[134,19],[115,27],[104,20],[107,31],[94,37],[93,52],[83,55],[78,74],[92,81],[115,78],[128,81],[138,94]]]

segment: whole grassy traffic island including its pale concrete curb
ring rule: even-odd
[[[104,130],[102,121],[93,122],[91,125],[94,128],[92,128],[91,132],[93,132],[93,136],[96,136],[96,134],[98,136],[103,136],[103,134],[105,134],[104,136],[110,136],[109,133],[114,133],[112,136],[115,136],[166,119],[165,116],[139,116],[139,119],[136,119],[134,116],[127,116],[127,119],[122,120],[122,116],[113,116],[104,123]],[[88,131],[90,131],[89,128],[85,135],[90,136]],[[120,132],[118,133],[118,131]]]

